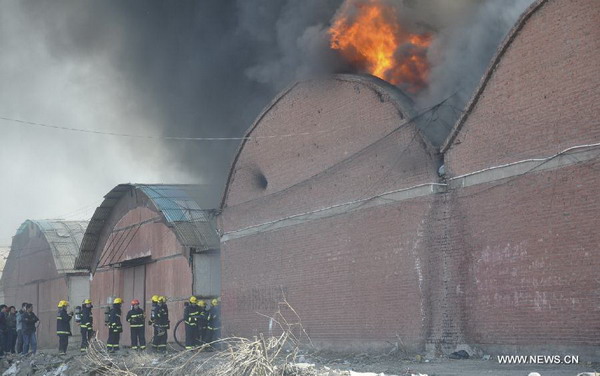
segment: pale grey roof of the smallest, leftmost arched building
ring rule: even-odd
[[[88,221],[64,221],[61,219],[27,220],[17,230],[17,234],[25,231],[33,223],[50,245],[56,270],[60,274],[75,271],[75,260],[79,255],[79,247]]]

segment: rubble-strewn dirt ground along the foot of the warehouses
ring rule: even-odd
[[[114,361],[129,365],[144,363],[149,367],[172,367],[176,354],[175,351],[167,356],[151,353],[139,354],[125,349],[114,356]],[[183,354],[184,356],[178,357],[176,362],[188,361],[191,354],[190,356]],[[196,353],[193,355],[193,361],[204,362],[213,355],[214,353],[199,355]],[[495,358],[489,360],[438,358],[418,359],[417,361],[397,357],[373,357],[366,354],[342,356],[341,354],[307,353],[297,357],[296,362],[285,372],[285,376],[528,376],[532,372],[537,372],[540,376],[581,374],[588,376],[596,375],[594,373],[596,370],[600,370],[600,364],[504,365],[499,364]],[[102,372],[97,366],[90,365],[88,358],[76,350],[70,351],[66,356],[58,356],[56,350],[42,350],[35,356],[8,356],[0,360],[0,375],[2,376],[97,374],[102,374]],[[138,373],[134,371],[133,374]]]

